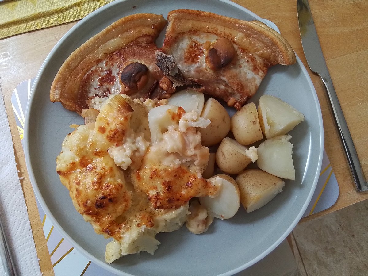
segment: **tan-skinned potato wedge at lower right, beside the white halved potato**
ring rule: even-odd
[[[236,177],[240,202],[249,213],[271,201],[285,185],[285,182],[259,169],[245,170]]]

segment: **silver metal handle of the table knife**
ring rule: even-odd
[[[353,139],[351,139],[351,134],[347,126],[344,113],[341,109],[339,99],[337,98],[335,88],[333,87],[331,77],[328,74],[323,76],[319,75],[319,77],[321,77],[322,82],[326,86],[327,94],[333,111],[333,117],[335,119],[337,129],[339,130],[339,136],[345,150],[345,155],[349,163],[351,175],[353,176],[357,191],[367,191],[367,180],[365,180],[363,169],[358,158],[358,153],[355,149]]]

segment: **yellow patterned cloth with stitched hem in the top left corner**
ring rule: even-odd
[[[0,3],[0,38],[75,21],[113,0],[14,0]]]

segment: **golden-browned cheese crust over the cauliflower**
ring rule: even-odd
[[[146,230],[164,215],[185,206],[192,197],[214,195],[218,187],[186,166],[164,166],[156,156],[133,160],[138,170],[123,170],[109,155],[125,135],[147,124],[142,103],[114,96],[95,123],[68,134],[56,158],[56,171],[69,190],[75,209],[96,233],[120,241],[130,230]],[[183,110],[183,109],[182,109]],[[183,110],[184,112],[184,110]],[[149,135],[149,134],[148,134]],[[147,138],[147,137],[146,137]]]

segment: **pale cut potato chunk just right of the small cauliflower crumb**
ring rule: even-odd
[[[259,169],[274,176],[295,180],[293,144],[289,142],[290,135],[280,135],[267,139],[258,146],[257,165]]]

